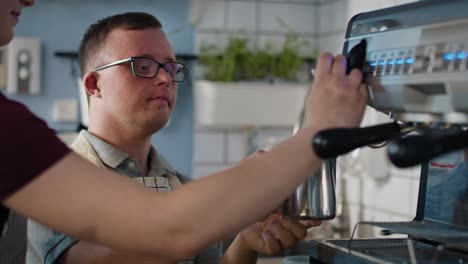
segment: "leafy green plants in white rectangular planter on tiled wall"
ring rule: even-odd
[[[300,45],[304,43],[289,34],[277,53],[271,44],[249,49],[248,39],[239,36],[231,36],[223,50],[202,47],[203,80],[194,83],[197,124],[292,126],[309,87],[297,81],[304,66]]]

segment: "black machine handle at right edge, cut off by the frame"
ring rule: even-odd
[[[456,129],[401,138],[388,146],[387,152],[395,166],[405,168],[465,147],[468,131]]]

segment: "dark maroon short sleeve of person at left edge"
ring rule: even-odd
[[[0,200],[69,151],[43,120],[0,93]]]

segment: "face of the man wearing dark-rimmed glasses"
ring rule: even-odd
[[[160,63],[175,61],[172,47],[160,29],[114,30],[101,46],[99,56],[104,63],[132,56]],[[153,134],[166,125],[175,107],[177,83],[164,69],[159,69],[152,79],[134,76],[130,63],[97,74],[101,113],[91,115],[104,115],[111,123],[136,129],[142,135]]]

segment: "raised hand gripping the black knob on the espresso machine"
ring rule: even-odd
[[[346,75],[346,57],[323,53],[314,77],[305,101],[303,126],[316,130],[358,126],[367,99],[362,72],[354,69]]]

